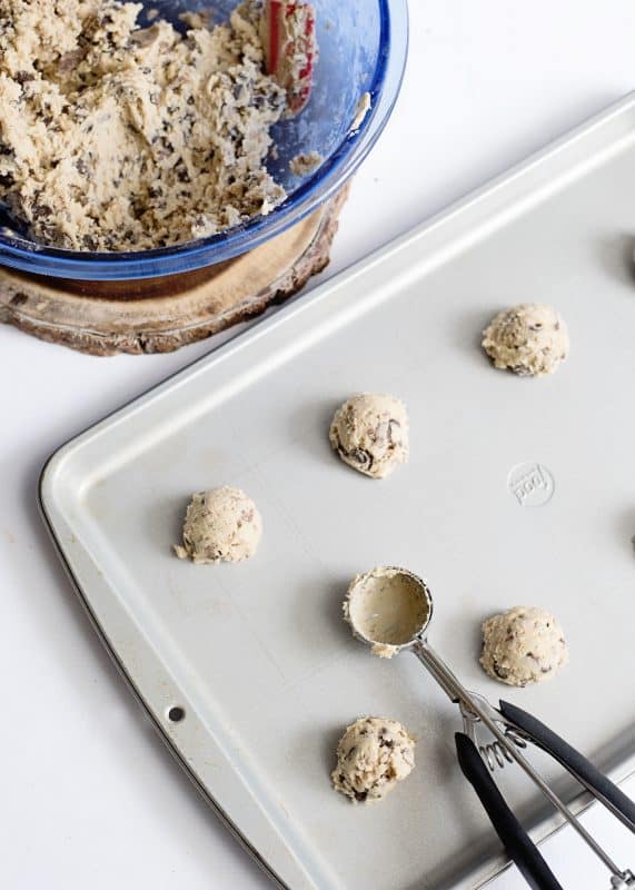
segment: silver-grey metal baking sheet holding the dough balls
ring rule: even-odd
[[[377,564],[428,580],[430,639],[468,686],[533,710],[617,780],[633,771],[634,195],[631,97],[48,463],[43,512],[99,632],[280,886],[474,888],[504,866],[455,762],[456,710],[413,656],[373,657],[340,619],[349,578]],[[480,353],[484,325],[522,300],[568,323],[572,355],[550,378]],[[358,390],[409,408],[410,461],[384,482],[329,448],[333,411]],[[262,513],[256,558],[175,558],[190,493],[228,483]],[[570,646],[534,689],[477,662],[482,620],[517,603],[550,607]],[[413,775],[370,808],[329,785],[360,714],[418,738]],[[500,781],[536,837],[553,830],[519,771]]]

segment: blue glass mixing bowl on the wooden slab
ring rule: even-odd
[[[178,16],[186,10],[211,7],[218,21],[236,4],[237,0],[147,0],[143,6],[159,9],[178,24]],[[175,275],[251,250],[333,197],[371,149],[397,99],[408,43],[407,0],[314,0],[314,4],[319,44],[314,89],[297,118],[272,129],[278,157],[268,167],[288,197],[268,216],[176,247],[135,253],[43,247],[2,220],[0,264],[92,281]],[[370,95],[370,110],[351,132],[356,106],[365,92]],[[289,161],[301,151],[318,151],[325,161],[312,175],[300,178],[291,174]]]

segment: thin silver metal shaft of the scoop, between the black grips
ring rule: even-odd
[[[593,850],[593,852],[602,860],[606,868],[611,871],[614,881],[622,881],[622,886],[631,887],[632,874],[631,872],[622,871],[617,864],[611,859],[608,853],[597,843],[595,838],[588,833],[582,822],[574,815],[566,803],[558,798],[558,795],[549,788],[545,780],[537,773],[529,761],[518,751],[515,744],[507,739],[505,731],[500,729],[499,724],[505,722],[502,712],[496,711],[492,705],[484,706],[480,703],[479,695],[473,695],[466,690],[458,678],[450,671],[448,665],[443,659],[431,649],[427,640],[419,639],[411,646],[413,653],[419,659],[421,664],[429,671],[429,673],[439,683],[441,689],[446,692],[454,703],[458,703],[462,708],[464,715],[466,712],[477,718],[489,732],[499,742],[500,746],[518,763],[527,777],[534,782],[547,800],[562,813],[572,828],[579,834],[584,842]],[[509,851],[512,854],[512,851]],[[613,884],[619,887],[619,883]],[[548,889],[548,886],[546,886]],[[542,890],[542,888],[540,888]]]

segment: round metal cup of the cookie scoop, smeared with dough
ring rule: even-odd
[[[416,575],[378,566],[353,578],[343,610],[353,631],[371,643],[375,655],[391,659],[426,624],[430,602]]]

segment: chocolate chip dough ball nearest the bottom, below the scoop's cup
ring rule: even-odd
[[[415,769],[415,740],[396,720],[363,716],[337,745],[333,787],[353,803],[375,803]]]

